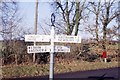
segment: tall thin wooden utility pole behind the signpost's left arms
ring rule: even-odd
[[[36,0],[36,10],[35,10],[35,23],[34,23],[34,34],[37,34],[37,23],[38,23],[38,0]],[[34,46],[36,46],[36,42],[34,41]],[[36,56],[33,54],[33,62],[35,63]]]

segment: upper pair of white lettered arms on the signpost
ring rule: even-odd
[[[25,35],[26,42],[50,42],[50,35]],[[53,42],[81,43],[80,36],[54,35]]]

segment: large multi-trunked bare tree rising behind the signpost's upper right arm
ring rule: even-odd
[[[62,15],[61,23],[64,25],[61,25],[61,23],[57,23],[59,28],[64,27],[65,33],[67,35],[71,35],[72,33],[74,35],[78,34],[80,21],[84,18],[84,10],[86,8],[86,0],[84,1],[77,1],[70,2],[69,0],[65,0],[64,2],[55,1],[55,4],[57,6],[58,14]],[[74,32],[73,32],[74,31]]]

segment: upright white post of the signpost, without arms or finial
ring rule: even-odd
[[[53,80],[54,78],[54,26],[52,26],[51,29],[51,52],[50,52],[50,74],[49,74],[49,79]]]

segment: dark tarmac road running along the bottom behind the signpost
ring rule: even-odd
[[[49,75],[2,80],[49,80]],[[120,67],[55,74],[54,80],[120,80]]]

